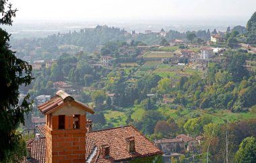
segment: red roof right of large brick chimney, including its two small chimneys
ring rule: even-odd
[[[162,155],[148,138],[133,126],[89,131],[86,162],[129,162]],[[143,162],[143,160],[141,160]]]

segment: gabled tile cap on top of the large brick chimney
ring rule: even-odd
[[[44,114],[53,113],[57,109],[59,109],[61,106],[71,103],[73,105],[77,105],[79,108],[84,109],[88,111],[89,113],[94,113],[93,109],[84,105],[84,103],[81,103],[79,101],[75,101],[71,95],[65,93],[65,91],[59,90],[57,91],[55,97],[51,98],[51,100],[47,101],[46,103],[42,103],[41,105],[38,105],[38,109]]]

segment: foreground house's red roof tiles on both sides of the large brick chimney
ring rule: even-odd
[[[37,126],[43,132],[43,125]],[[45,131],[44,131],[45,132]],[[127,139],[135,140],[135,152],[127,152]],[[110,156],[102,156],[102,145],[108,145]],[[45,137],[27,141],[27,148],[31,149],[32,162],[45,162],[46,144]],[[93,154],[96,149],[95,154]],[[148,138],[143,136],[132,126],[102,129],[86,133],[86,160],[92,157],[91,162],[114,162],[121,160],[133,160],[146,156],[156,156],[162,154]],[[28,162],[26,158],[22,163]],[[31,163],[31,162],[30,162]]]

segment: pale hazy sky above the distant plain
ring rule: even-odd
[[[9,0],[15,21],[248,20],[256,0]]]

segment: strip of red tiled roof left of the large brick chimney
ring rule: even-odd
[[[27,160],[26,157],[21,161],[21,163],[42,163],[45,162],[45,138],[38,138],[34,140],[27,141],[27,148],[31,150],[31,160]]]

